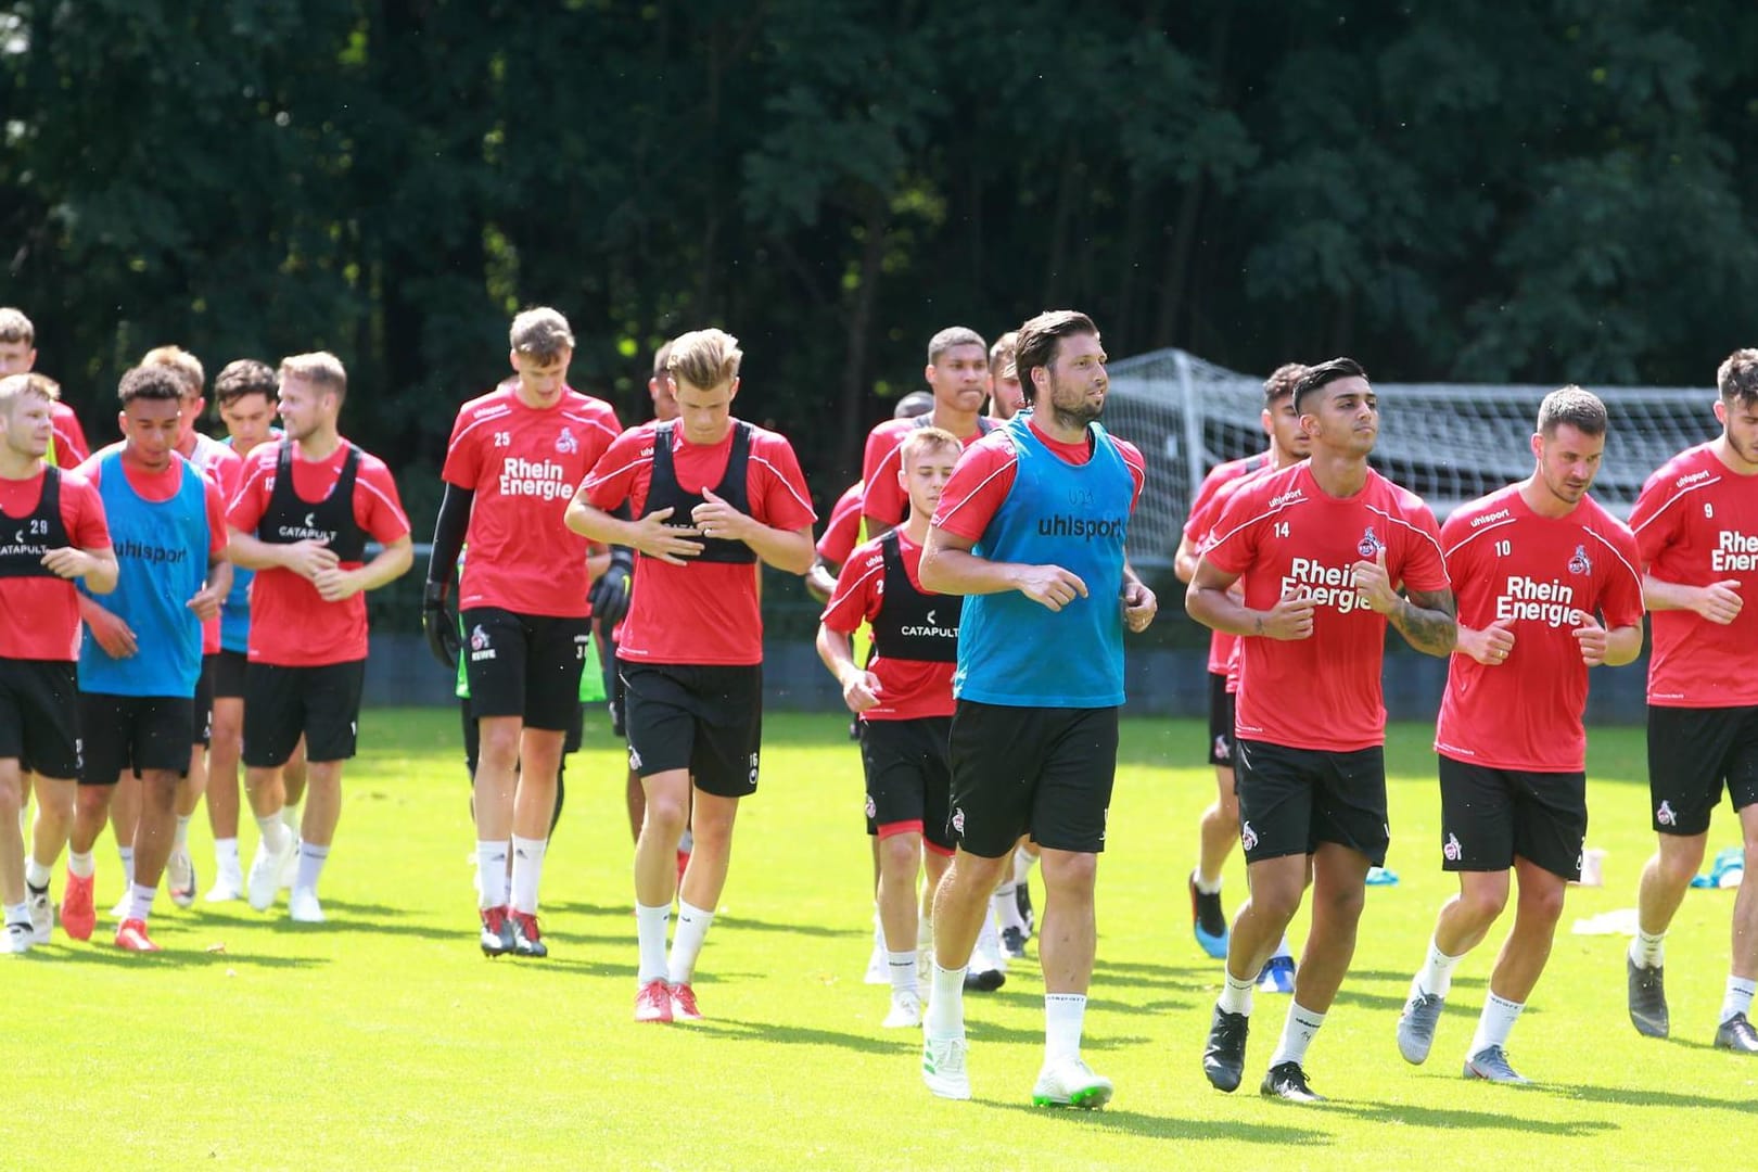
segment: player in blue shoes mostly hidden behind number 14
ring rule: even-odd
[[[1297,362],[1285,362],[1264,380],[1264,411],[1259,422],[1269,438],[1269,450],[1243,460],[1217,464],[1202,478],[1197,497],[1190,503],[1190,518],[1178,541],[1178,553],[1173,557],[1173,573],[1178,575],[1180,582],[1188,585],[1195,575],[1202,543],[1215,527],[1220,508],[1231,499],[1231,492],[1225,490],[1236,490],[1250,476],[1278,473],[1297,464],[1311,450],[1311,441],[1301,430],[1301,416],[1294,411],[1294,383],[1304,371],[1306,367]],[[1224,631],[1210,634],[1208,761],[1215,766],[1215,801],[1197,822],[1197,868],[1188,880],[1190,926],[1197,944],[1215,959],[1227,956],[1227,914],[1220,901],[1220,868],[1239,840],[1239,799],[1232,777],[1232,710],[1238,680],[1227,669],[1238,645],[1239,640]],[[1294,954],[1289,951],[1287,937],[1264,965],[1259,986],[1271,993],[1294,991]]]

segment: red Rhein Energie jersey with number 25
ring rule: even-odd
[[[563,517],[585,474],[622,429],[608,402],[564,388],[533,408],[513,387],[466,402],[440,476],[475,494],[459,610],[584,619],[585,538]]]

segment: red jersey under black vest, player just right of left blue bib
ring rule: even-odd
[[[308,460],[294,445],[294,494],[320,504],[336,488],[348,443],[322,460]],[[274,467],[280,443],[264,443],[244,457],[244,476],[227,508],[227,522],[239,532],[257,532],[257,524],[274,494]],[[353,522],[367,538],[389,545],[410,532],[410,518],[397,497],[397,481],[376,455],[360,452],[353,481]],[[343,562],[359,569],[362,562]],[[315,585],[292,569],[258,569],[250,583],[250,661],[281,668],[318,668],[366,659],[366,594],[339,603],[325,603]]]

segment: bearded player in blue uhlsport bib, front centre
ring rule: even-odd
[[[1081,1026],[1123,627],[1144,631],[1157,608],[1125,557],[1144,471],[1141,453],[1097,422],[1109,381],[1092,318],[1032,318],[1016,362],[1034,409],[965,452],[921,555],[923,589],[965,596],[951,727],[958,852],[933,900],[921,1074],[935,1095],[970,1098],[965,963],[1030,833],[1044,868],[1044,1065],[1032,1102],[1095,1109],[1111,1081],[1081,1060]]]

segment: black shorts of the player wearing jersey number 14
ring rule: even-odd
[[[1245,861],[1311,854],[1334,842],[1385,865],[1385,749],[1324,752],[1239,738],[1239,845]]]

